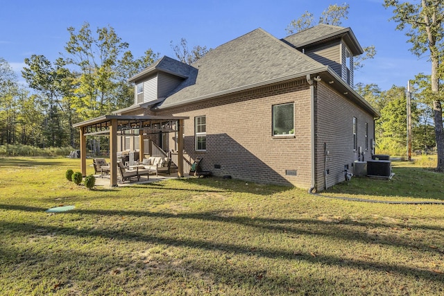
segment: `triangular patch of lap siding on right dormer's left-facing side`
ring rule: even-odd
[[[326,44],[315,49],[309,49],[305,53],[316,62],[330,66],[341,76],[341,45],[339,41]]]

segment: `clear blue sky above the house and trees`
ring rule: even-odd
[[[382,90],[407,85],[417,73],[430,73],[428,57],[417,58],[410,51],[407,37],[395,31],[388,21],[392,10],[383,0],[349,0],[350,27],[361,46],[375,45],[377,55],[355,73],[355,83],[375,83]],[[130,51],[139,57],[151,48],[175,58],[170,42],[185,37],[189,47],[215,48],[255,28],[275,37],[287,35],[285,28],[306,10],[315,20],[330,4],[329,0],[0,0],[0,57],[19,73],[24,59],[33,54],[56,60],[69,40],[67,28],[80,28],[85,21],[92,29],[112,26]],[[22,80],[22,78],[21,78]]]

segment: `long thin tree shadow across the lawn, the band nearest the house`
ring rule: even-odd
[[[0,209],[5,210],[17,210],[17,211],[31,211],[31,212],[44,212],[46,209],[41,207],[27,207],[14,204],[0,204]],[[359,222],[356,220],[344,219],[344,220],[316,220],[310,218],[249,218],[245,216],[229,216],[230,211],[205,211],[198,213],[182,213],[171,214],[165,212],[152,212],[152,211],[133,211],[133,210],[97,210],[97,209],[73,209],[60,215],[69,214],[81,214],[81,215],[101,215],[101,216],[134,216],[137,218],[161,218],[161,219],[191,219],[191,220],[204,220],[209,222],[221,222],[228,224],[237,224],[246,227],[257,228],[265,232],[280,232],[287,234],[307,234],[307,235],[320,235],[330,238],[345,239],[347,241],[359,241],[362,243],[375,244],[375,245],[389,245],[395,247],[413,247],[416,250],[422,250],[424,252],[436,252],[438,254],[444,254],[444,250],[438,248],[431,248],[428,243],[420,243],[420,241],[412,241],[410,238],[402,237],[388,237],[388,236],[369,236],[368,229],[377,229],[382,227],[384,229],[393,229],[393,227],[399,229],[409,230],[410,227],[414,229],[422,229],[424,231],[444,231],[444,227],[434,227],[430,225],[414,225],[409,226],[403,223],[376,223],[376,222]],[[2,225],[2,224],[0,224]],[[43,226],[41,226],[43,227]],[[319,228],[324,227],[324,228]],[[344,229],[344,227],[347,227]],[[364,227],[364,231],[360,231],[357,227]],[[58,227],[54,227],[53,231],[56,231]],[[63,227],[60,229],[62,230]],[[119,235],[121,233],[119,232]],[[124,235],[123,235],[124,236]]]

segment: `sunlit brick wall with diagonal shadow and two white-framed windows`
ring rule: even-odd
[[[303,79],[163,110],[156,115],[189,116],[185,121],[185,152],[191,157],[203,157],[203,169],[214,175],[308,188],[309,100],[309,85]],[[272,136],[272,105],[282,103],[295,104],[295,137]],[[203,115],[207,122],[207,150],[198,152],[194,148],[194,117]],[[172,141],[174,135],[169,137]],[[286,175],[286,170],[296,171],[296,175]]]

